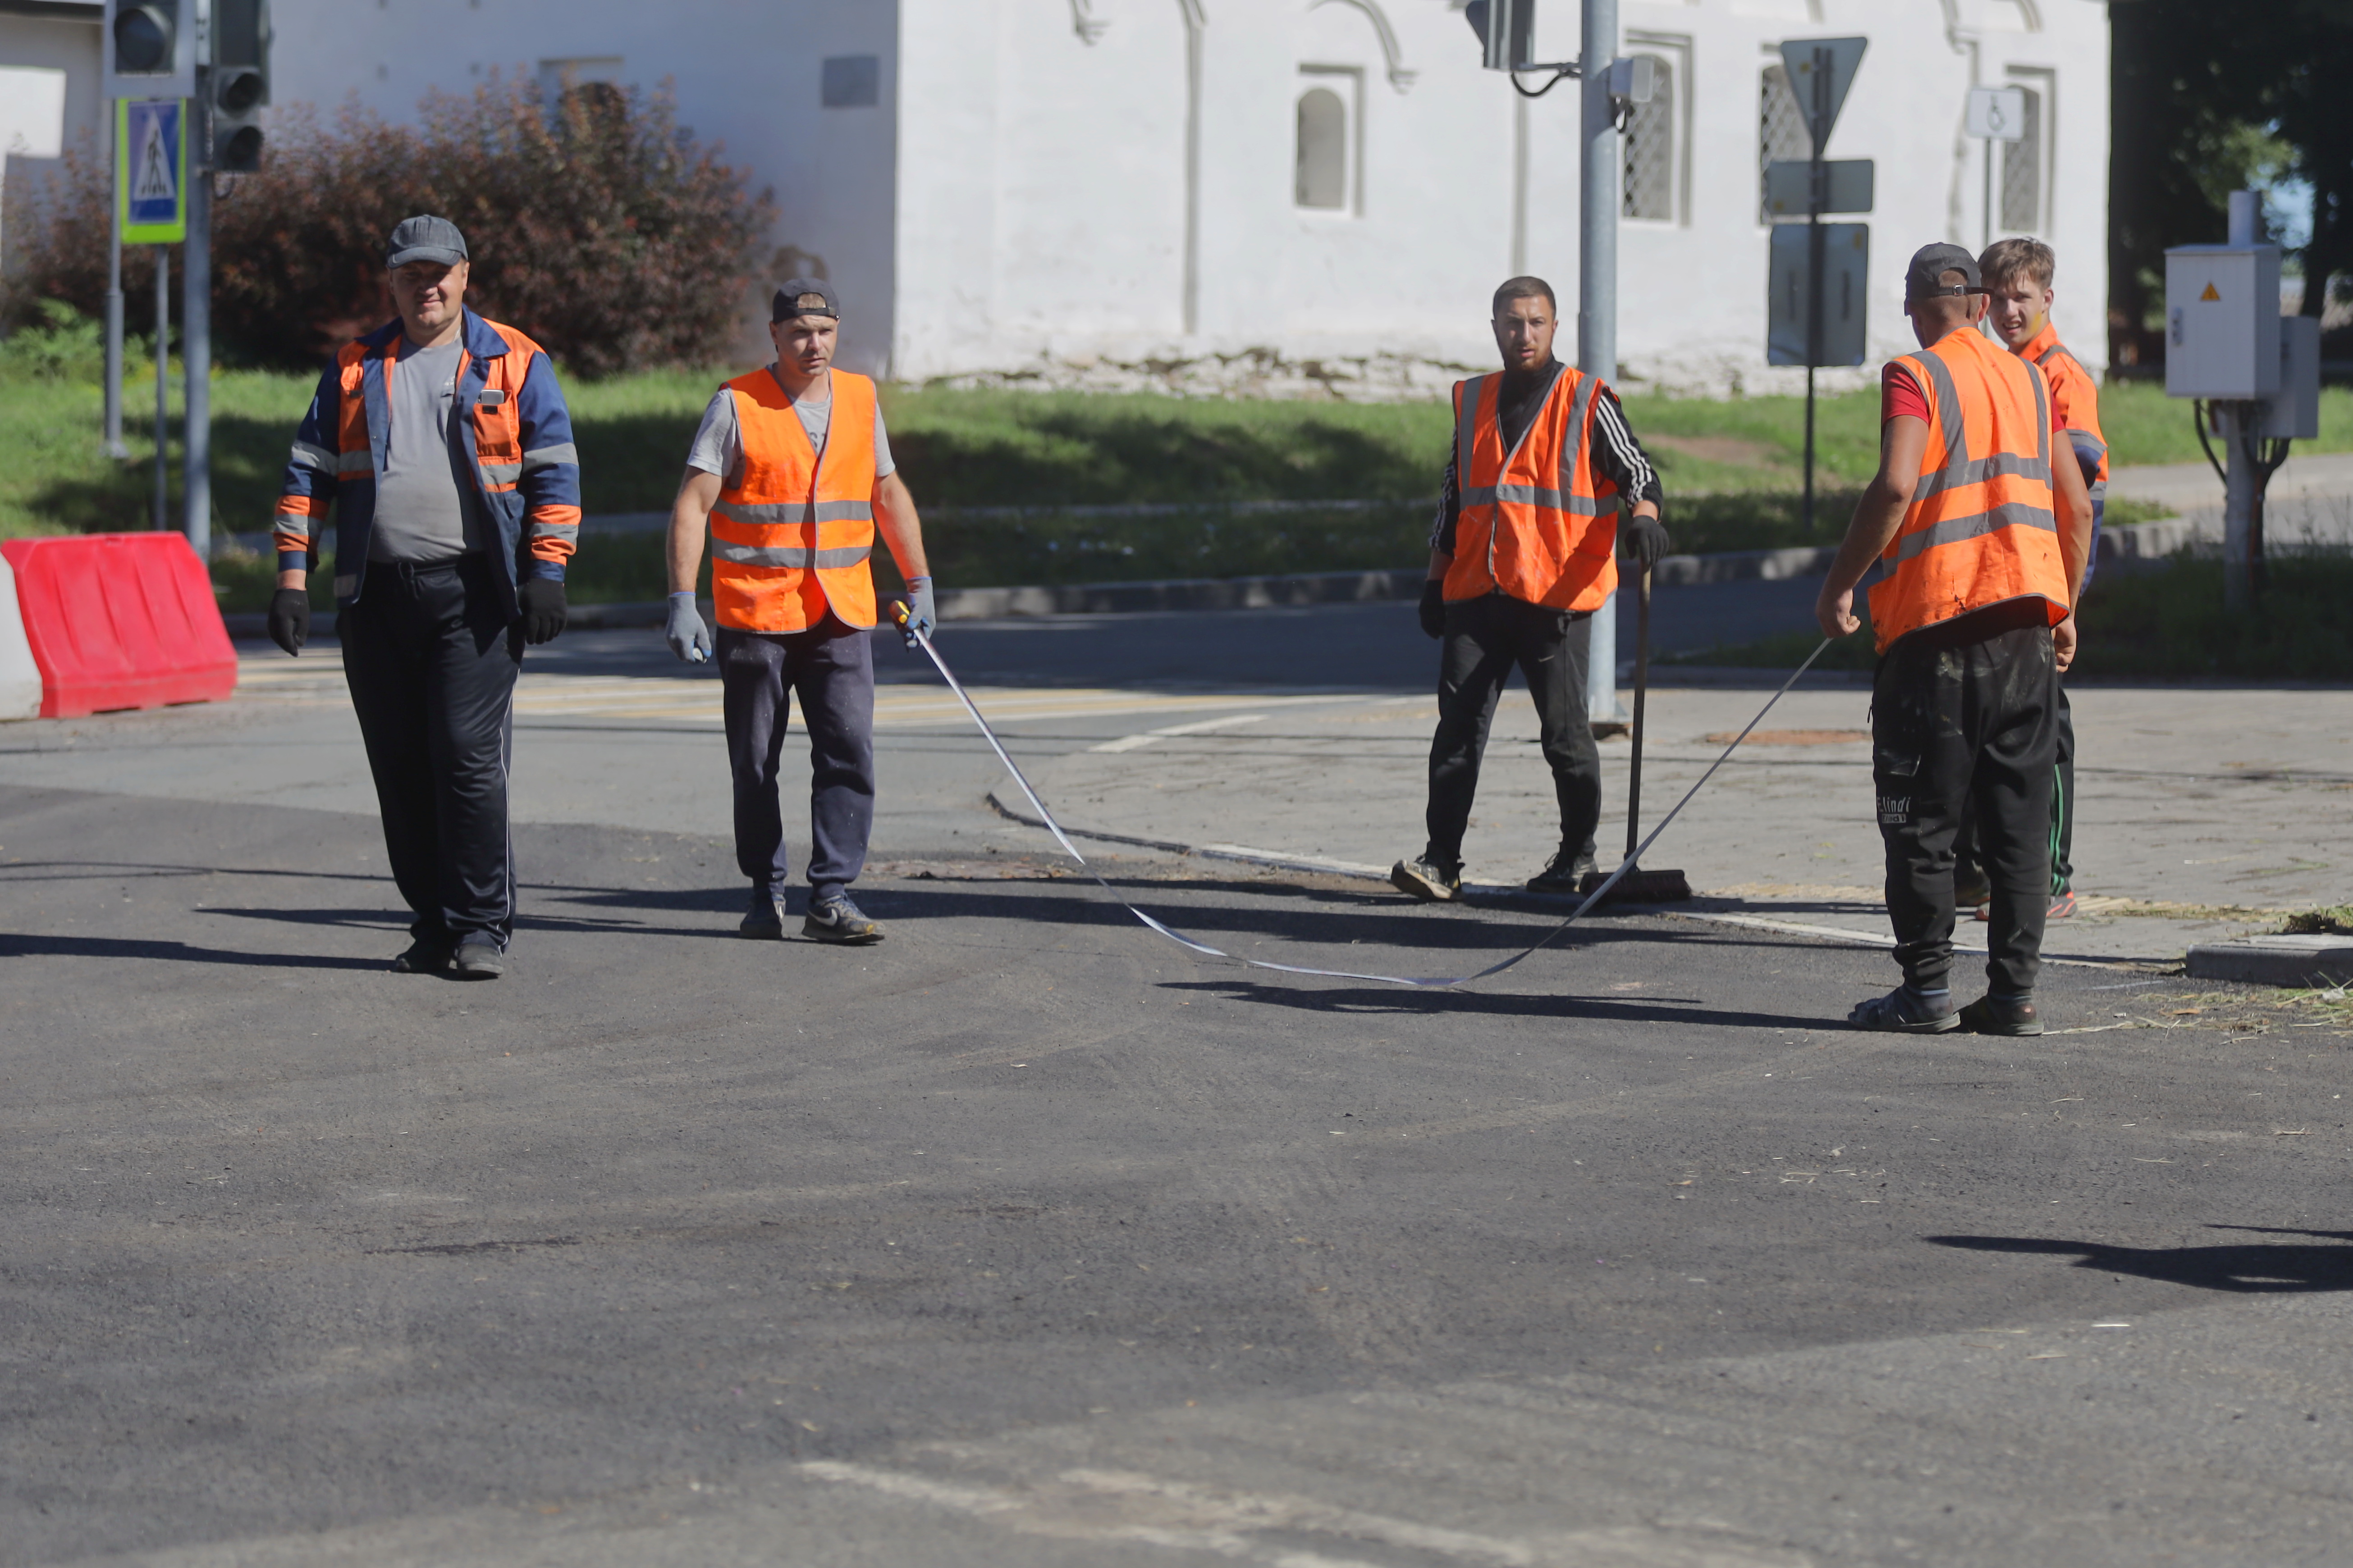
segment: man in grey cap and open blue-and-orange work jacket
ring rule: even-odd
[[[522,644],[565,630],[581,470],[555,364],[466,308],[466,237],[400,223],[398,320],[320,376],[278,501],[268,630],[311,637],[318,524],[334,510],[344,679],[393,882],[414,912],[395,973],[506,973],[515,867],[506,769]]]

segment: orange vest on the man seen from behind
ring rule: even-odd
[[[2052,404],[2042,371],[1974,327],[1897,360],[1937,411],[1904,527],[1871,585],[1871,632],[1897,637],[1972,609],[2040,595],[2068,616],[2052,503]]]

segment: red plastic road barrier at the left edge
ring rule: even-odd
[[[40,717],[216,703],[238,689],[212,574],[184,536],[7,538],[0,555],[40,665]]]

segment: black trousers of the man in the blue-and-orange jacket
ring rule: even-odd
[[[344,682],[376,776],[384,849],[419,940],[515,931],[506,769],[522,625],[482,555],[412,567],[369,562],[360,602],[334,625]]]

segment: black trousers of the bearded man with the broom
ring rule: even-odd
[[[1438,733],[1431,738],[1433,865],[1459,870],[1487,726],[1513,665],[1537,701],[1537,736],[1560,799],[1560,846],[1593,853],[1602,820],[1602,752],[1586,715],[1586,644],[1591,616],[1544,609],[1499,592],[1447,604],[1438,651]]]

